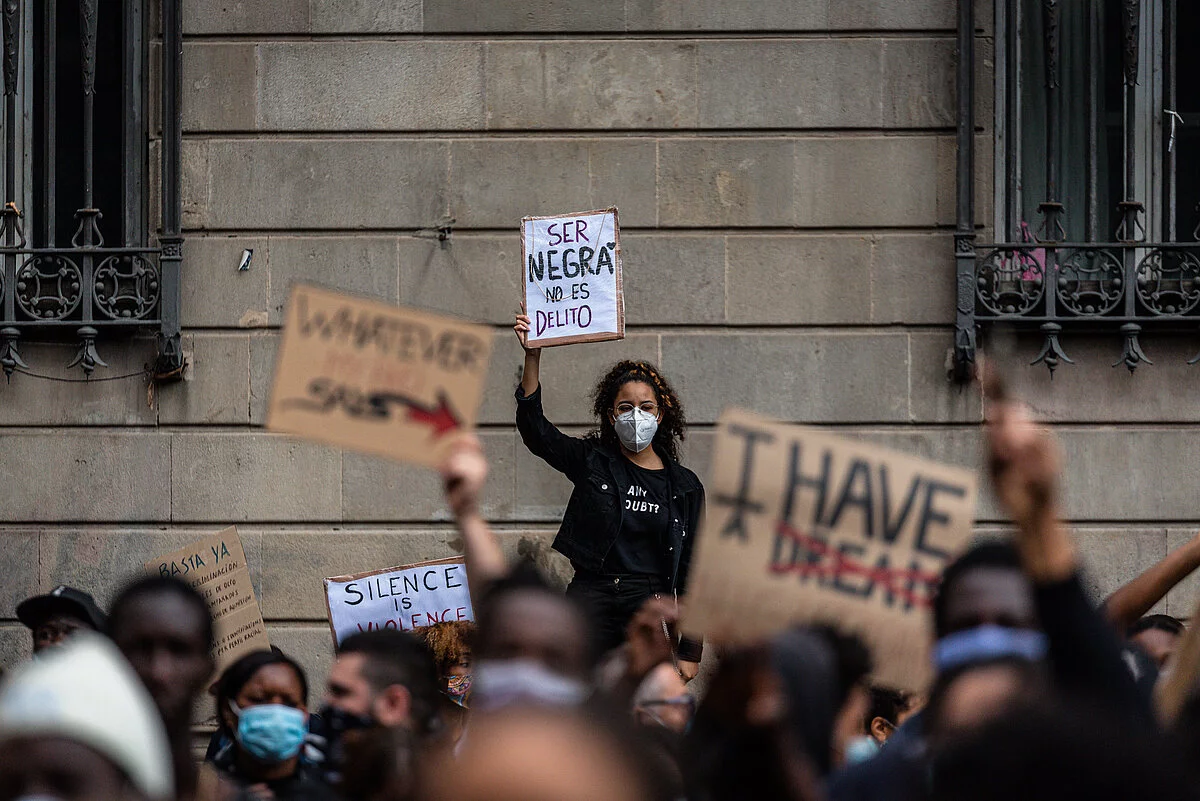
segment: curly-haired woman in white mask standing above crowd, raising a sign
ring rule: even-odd
[[[569,436],[541,409],[541,349],[527,347],[529,318],[514,330],[524,348],[517,387],[517,429],[526,447],[575,484],[554,537],[571,560],[568,595],[593,613],[598,650],[625,639],[625,626],[650,596],[678,596],[688,580],[691,547],[704,506],[704,487],[678,462],[683,405],[671,385],[643,361],[623,361],[593,395],[598,428]],[[691,679],[700,643],[679,644],[679,669]]]

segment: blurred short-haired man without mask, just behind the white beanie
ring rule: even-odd
[[[215,669],[209,604],[176,578],[146,576],[113,601],[108,634],[158,707],[174,759],[175,797],[190,801],[197,794],[192,709]]]

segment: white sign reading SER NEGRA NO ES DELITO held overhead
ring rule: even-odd
[[[625,338],[617,210],[521,221],[528,344]]]

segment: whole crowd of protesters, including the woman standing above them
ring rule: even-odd
[[[528,319],[515,327],[524,344]],[[704,505],[679,463],[680,398],[620,362],[596,430],[570,436],[542,411],[540,359],[527,349],[517,428],[574,484],[565,594],[506,562],[480,513],[487,462],[462,436],[443,478],[474,622],[354,634],[311,687],[278,649],[216,675],[210,609],[178,579],[136,578],[107,614],[60,586],[17,608],[34,658],[0,683],[0,801],[1200,796],[1200,693],[1156,713],[1171,671],[1194,669],[1184,625],[1147,616],[1200,567],[1200,538],[1093,604],[1054,439],[995,375],[988,471],[1013,534],[944,570],[936,675],[907,693],[874,685],[877,655],[834,620],[738,648],[679,631]],[[202,748],[198,718],[215,721]]]

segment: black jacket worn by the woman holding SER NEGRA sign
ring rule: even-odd
[[[620,499],[632,483],[630,462],[600,442],[558,430],[542,414],[540,386],[528,397],[518,386],[516,395],[517,430],[526,447],[575,484],[554,537],[554,550],[570,559],[576,570],[601,573],[605,556],[620,535]],[[691,548],[704,510],[704,487],[691,470],[661,451],[659,456],[671,484],[672,520],[661,543],[661,564],[668,571],[662,579],[682,595],[688,585]]]

